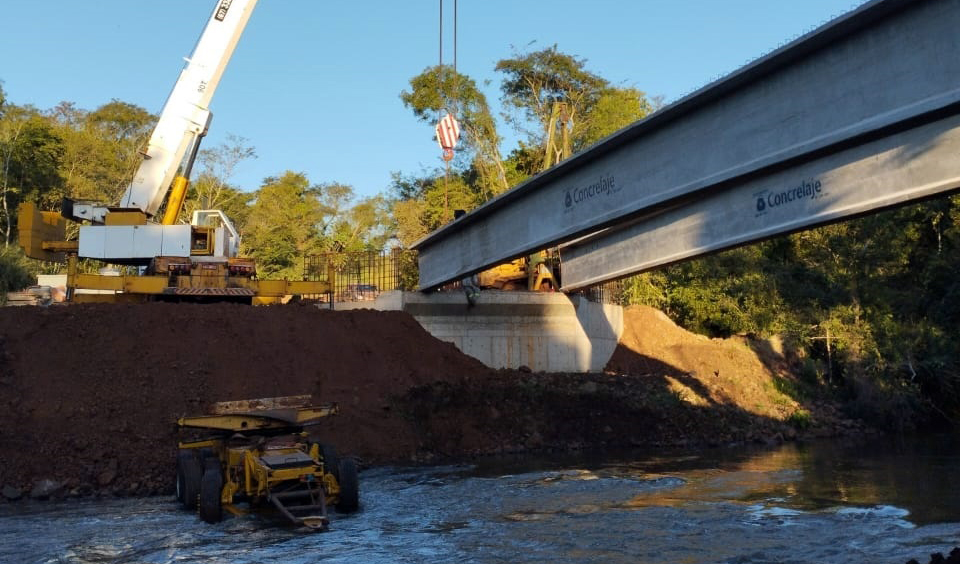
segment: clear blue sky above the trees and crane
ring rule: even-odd
[[[111,99],[159,112],[214,0],[10,0],[0,80],[10,102],[94,109]],[[557,44],[588,70],[666,102],[732,72],[856,7],[851,0],[460,0],[457,63],[499,98],[496,62]],[[360,196],[391,172],[441,166],[433,127],[399,94],[438,62],[439,0],[260,0],[220,83],[206,147],[228,134],[258,158],[234,185],[304,172]],[[444,2],[444,60],[453,55],[453,0]],[[533,42],[531,44],[531,42]],[[515,135],[500,122],[504,155]]]

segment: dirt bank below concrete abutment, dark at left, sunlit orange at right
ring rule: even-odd
[[[624,310],[603,374],[499,371],[414,387],[409,410],[437,454],[718,446],[859,434],[835,407],[801,405],[775,342],[709,339],[649,307]]]

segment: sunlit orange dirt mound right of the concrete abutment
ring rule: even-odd
[[[805,397],[794,369],[796,356],[784,350],[779,339],[710,339],[678,327],[663,312],[645,306],[625,308],[623,317],[623,335],[607,363],[608,373],[645,376],[652,382],[648,387],[662,382],[674,399],[686,405],[745,414],[754,421],[754,431],[759,430],[759,435],[747,431],[748,440],[770,432],[781,438],[875,432],[863,421],[845,416],[835,401]],[[778,422],[787,425],[776,431]],[[708,437],[711,433],[709,442],[727,435],[721,429],[691,434]]]

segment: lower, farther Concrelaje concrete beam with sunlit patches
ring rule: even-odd
[[[960,188],[960,117],[711,192],[561,247],[563,289]]]

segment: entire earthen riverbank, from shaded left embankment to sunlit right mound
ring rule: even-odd
[[[797,403],[768,342],[625,311],[607,370],[493,370],[401,312],[310,304],[0,310],[0,502],[173,489],[175,421],[225,400],[338,402],[316,438],[363,465],[862,433]]]

